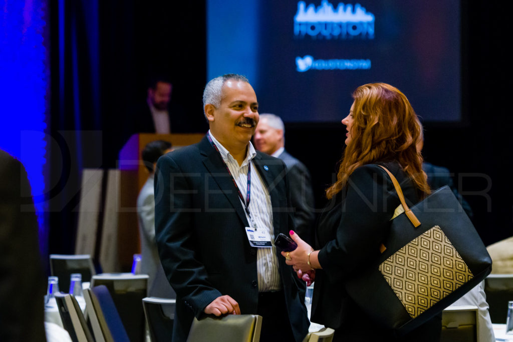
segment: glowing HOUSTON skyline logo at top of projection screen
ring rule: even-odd
[[[314,39],[373,39],[374,14],[360,4],[339,3],[334,9],[327,0],[321,6],[298,2],[294,16],[294,36]]]

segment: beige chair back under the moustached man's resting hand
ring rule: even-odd
[[[227,315],[194,317],[187,342],[258,342],[262,329],[262,316]]]

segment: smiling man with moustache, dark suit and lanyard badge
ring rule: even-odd
[[[257,96],[248,80],[212,79],[203,94],[210,130],[159,159],[155,237],[176,291],[173,341],[195,317],[259,314],[262,341],[301,341],[308,331],[304,283],[273,245],[293,228],[286,168],[254,150]]]

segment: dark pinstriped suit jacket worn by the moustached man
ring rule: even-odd
[[[288,234],[293,223],[285,165],[261,152],[253,163],[271,197],[274,235]],[[241,313],[257,313],[257,249],[249,245],[247,226],[232,178],[206,136],[159,159],[155,239],[176,291],[173,341],[185,341],[193,317],[202,316],[205,307],[221,295],[236,300]],[[301,341],[309,326],[304,283],[278,251],[277,255],[291,328]]]

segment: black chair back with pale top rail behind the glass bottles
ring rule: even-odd
[[[68,292],[71,273],[82,274],[82,281],[91,281],[96,274],[89,254],[50,254],[50,273],[59,278],[59,289]]]

